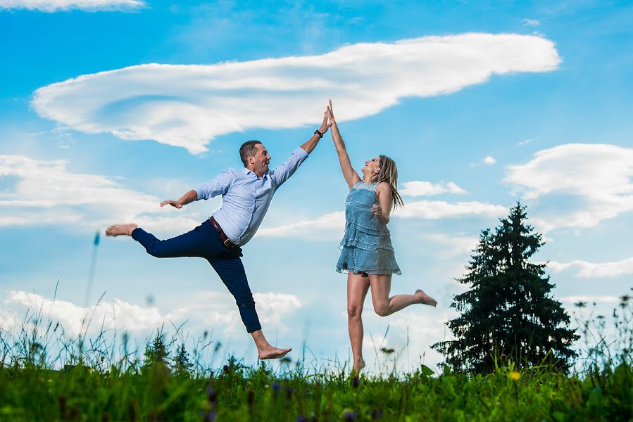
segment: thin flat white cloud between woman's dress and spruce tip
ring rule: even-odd
[[[442,219],[481,215],[498,218],[505,215],[506,212],[508,212],[507,207],[477,201],[447,203],[441,200],[420,200],[408,202],[403,208],[395,210],[394,217]]]

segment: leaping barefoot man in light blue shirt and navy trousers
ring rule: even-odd
[[[194,188],[179,200],[163,201],[161,207],[172,205],[182,208],[194,200],[222,195],[220,210],[188,233],[160,241],[136,224],[116,224],[106,230],[106,235],[132,236],[150,255],[159,258],[202,257],[208,260],[235,298],[246,331],[251,333],[257,346],[259,359],[284,357],[292,349],[272,347],[261,331],[255,301],[239,259],[241,247],[257,231],[277,188],[306,160],[331,125],[324,114],[321,127],[311,139],[296,148],[284,164],[270,171],[270,155],[265,146],[260,141],[245,142],[239,148],[244,162],[241,171],[225,170],[214,181]]]

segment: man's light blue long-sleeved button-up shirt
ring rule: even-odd
[[[257,177],[245,167],[242,170],[227,169],[215,180],[194,190],[198,193],[198,200],[222,195],[222,206],[213,213],[213,218],[227,238],[242,246],[255,235],[277,188],[296,172],[306,158],[308,153],[299,147],[282,165],[262,177]]]

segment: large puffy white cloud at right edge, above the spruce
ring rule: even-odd
[[[508,167],[504,180],[522,190],[526,200],[543,199],[544,211],[533,221],[548,230],[596,226],[633,210],[632,177],[632,148],[568,143],[539,151],[524,165]],[[554,203],[553,210],[547,209]]]

